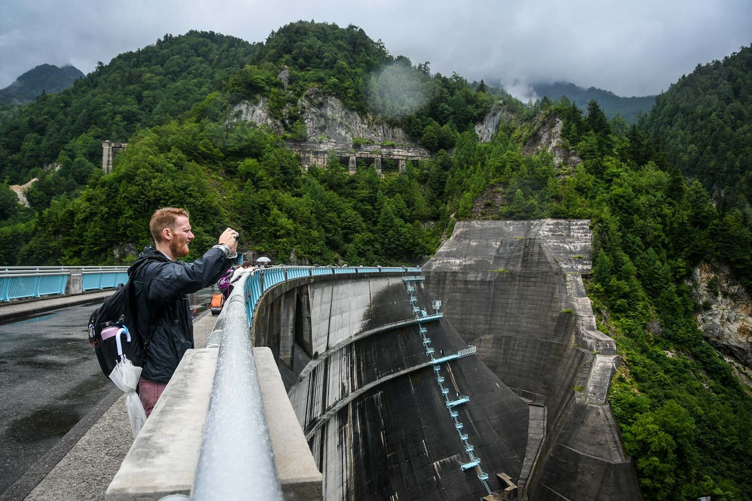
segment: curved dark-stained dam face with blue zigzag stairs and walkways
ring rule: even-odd
[[[497,473],[523,475],[529,406],[433,299],[423,282],[359,273],[259,300],[254,346],[277,357],[324,499],[477,501],[506,487]]]

